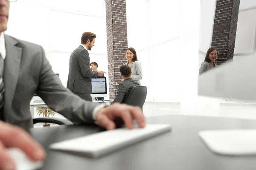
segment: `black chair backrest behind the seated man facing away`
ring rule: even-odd
[[[143,105],[145,103],[145,99],[147,96],[147,87],[142,85],[133,86],[125,99],[123,100],[127,105],[139,106],[143,109]]]

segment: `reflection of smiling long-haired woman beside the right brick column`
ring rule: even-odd
[[[217,64],[214,63],[214,61],[218,58],[218,51],[215,47],[211,47],[208,49],[204,62],[202,62],[201,67],[199,69],[199,75],[206,72],[209,69],[212,69],[214,67],[218,67]]]

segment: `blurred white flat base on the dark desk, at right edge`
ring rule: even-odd
[[[256,155],[256,129],[199,132],[210,150],[221,155]]]

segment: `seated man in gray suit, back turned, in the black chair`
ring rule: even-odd
[[[121,73],[121,78],[124,79],[124,81],[122,81],[118,85],[117,94],[116,94],[116,97],[115,97],[115,99],[112,103],[114,103],[114,102],[119,102],[119,103],[124,102],[125,96],[127,96],[131,87],[140,85],[139,83],[135,82],[131,78],[131,75],[132,75],[131,67],[129,67],[128,65],[122,65],[120,67],[119,71]]]

